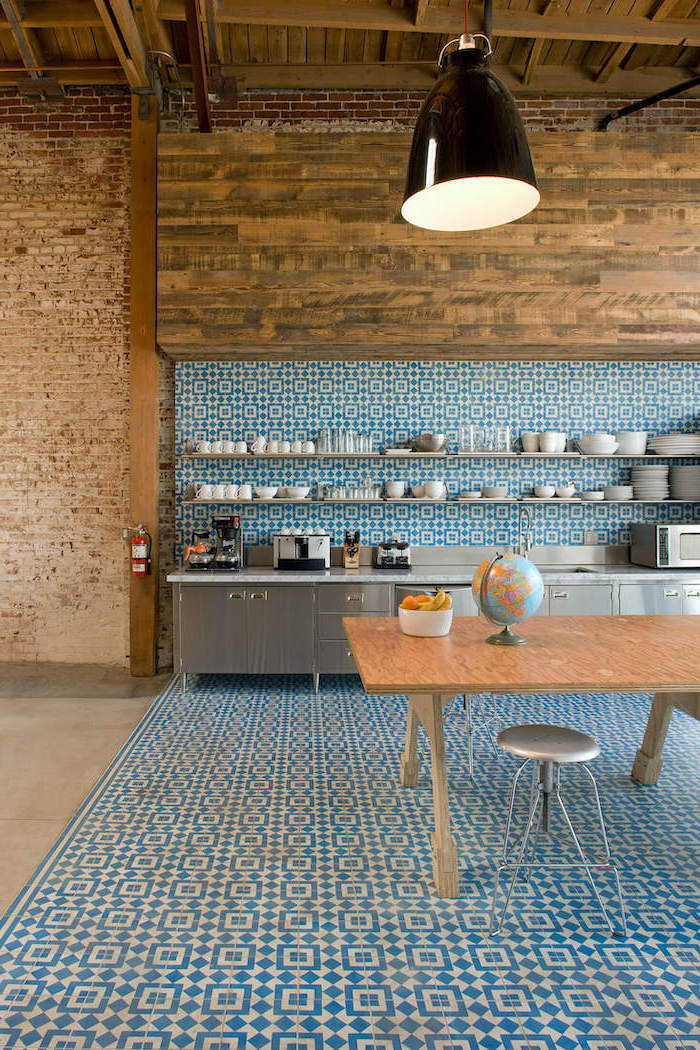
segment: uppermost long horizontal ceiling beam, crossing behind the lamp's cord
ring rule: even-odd
[[[183,21],[185,0],[161,0],[162,18]],[[479,12],[471,18],[474,29],[481,24]],[[321,28],[387,29],[401,33],[459,34],[462,13],[458,7],[428,7],[425,20],[417,25],[410,7],[380,6],[362,0],[219,0],[216,19],[239,25],[305,25]],[[545,40],[587,40],[603,43],[671,44],[700,47],[700,24],[648,18],[617,18],[607,15],[536,15],[532,12],[493,12],[493,34],[500,37],[544,38]]]

